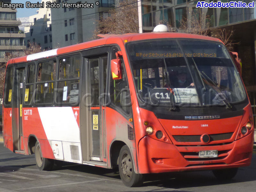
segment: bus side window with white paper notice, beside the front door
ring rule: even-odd
[[[60,59],[56,91],[57,103],[77,103],[80,71],[80,55]]]

